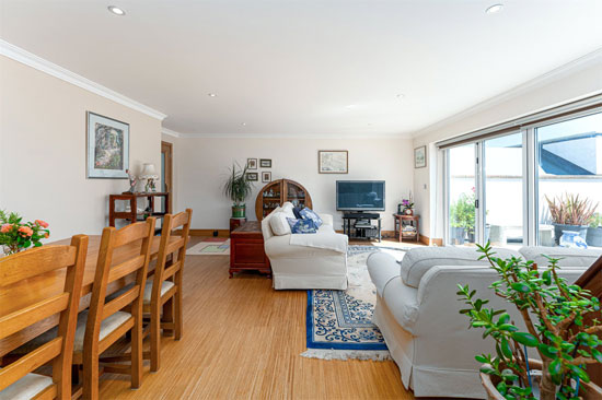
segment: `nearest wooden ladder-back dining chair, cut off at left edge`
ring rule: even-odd
[[[40,295],[33,304],[0,318],[0,345],[4,348],[19,338],[27,338],[34,325],[58,317],[54,339],[0,369],[0,399],[71,398],[73,337],[86,251],[88,236],[78,235],[69,246],[43,246],[0,258],[0,292],[4,296],[11,295],[11,286],[19,281],[33,281],[43,273],[66,269],[62,293]],[[15,298],[16,303],[22,301],[23,297]],[[33,373],[50,362],[51,377]]]

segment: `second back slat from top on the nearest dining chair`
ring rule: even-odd
[[[0,339],[4,339],[28,326],[60,313],[69,306],[69,293],[45,298],[26,308],[0,318]]]

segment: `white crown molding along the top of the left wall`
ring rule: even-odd
[[[22,49],[21,47],[14,46],[2,39],[0,39],[0,55],[13,59],[18,62],[24,63],[25,66],[35,68],[38,71],[45,72],[65,82],[69,82],[78,87],[108,98],[109,101],[143,113],[152,118],[163,120],[167,117],[165,114],[158,111],[157,109],[138,103],[135,99],[124,96],[120,93],[112,91],[108,87],[105,87],[96,82],[83,78],[82,75],[71,72],[60,66],[57,66],[56,63],[45,60],[42,57],[31,54]]]

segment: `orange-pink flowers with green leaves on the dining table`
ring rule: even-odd
[[[12,255],[26,248],[42,246],[42,239],[50,236],[48,223],[42,220],[22,222],[15,212],[0,210],[0,246],[5,255]]]

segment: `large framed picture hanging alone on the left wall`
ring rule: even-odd
[[[86,113],[88,178],[127,179],[129,123]]]

